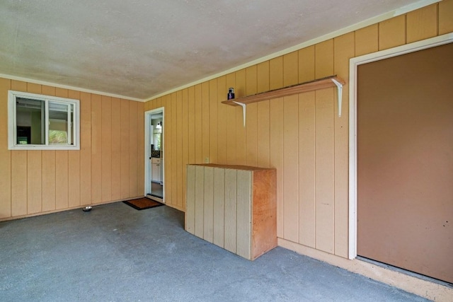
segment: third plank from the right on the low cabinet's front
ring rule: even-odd
[[[225,169],[214,168],[214,230],[212,243],[224,247]]]

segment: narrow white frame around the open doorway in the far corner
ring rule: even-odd
[[[165,180],[165,108],[156,108],[153,110],[148,110],[144,112],[144,196],[147,196],[151,192],[151,141],[149,139],[149,128],[151,122],[151,115],[157,113],[162,113],[162,134],[161,134],[161,158],[164,158],[162,161],[162,179]],[[165,187],[165,181],[164,181]],[[165,202],[165,190],[162,192],[162,202]]]

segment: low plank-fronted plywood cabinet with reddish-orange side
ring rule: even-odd
[[[187,165],[185,230],[254,260],[277,246],[276,170]]]

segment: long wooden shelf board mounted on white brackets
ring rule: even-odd
[[[309,91],[316,91],[319,89],[336,87],[337,86],[336,83],[333,82],[332,80],[337,81],[341,85],[345,84],[345,81],[343,81],[343,79],[338,78],[338,76],[328,76],[323,79],[316,79],[314,81],[300,83],[300,84],[288,86],[285,88],[279,88],[279,89],[275,89],[273,91],[266,91],[263,93],[257,93],[255,95],[248,95],[248,96],[243,96],[241,98],[234,98],[233,100],[224,100],[224,101],[222,101],[222,103],[224,103],[226,105],[231,105],[231,106],[239,106],[238,103],[251,104],[251,103],[260,102],[262,100],[270,100],[273,98],[282,98],[284,96],[293,95],[296,93],[304,93],[304,92],[309,92]],[[235,103],[235,102],[237,102],[237,103]]]

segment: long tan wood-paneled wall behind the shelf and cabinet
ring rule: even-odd
[[[370,25],[217,79],[164,95],[166,204],[185,209],[185,165],[277,168],[277,236],[348,257],[349,59],[453,31],[453,0]],[[266,100],[242,111],[220,103],[337,74],[345,79],[342,117],[334,88]]]

